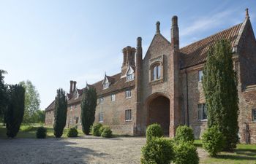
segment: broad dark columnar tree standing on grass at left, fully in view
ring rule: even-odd
[[[25,89],[21,85],[10,85],[10,101],[5,114],[7,136],[14,138],[24,115]]]

